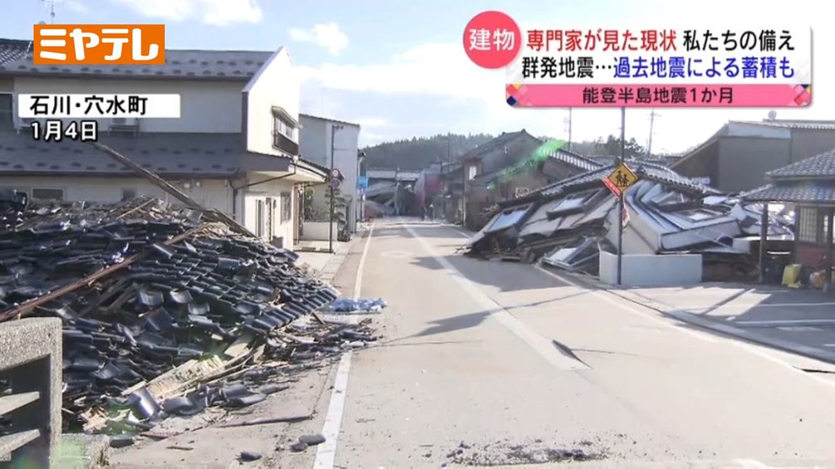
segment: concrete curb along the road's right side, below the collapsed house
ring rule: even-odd
[[[711,330],[721,335],[730,335],[732,337],[736,337],[738,339],[746,340],[760,345],[767,345],[777,350],[791,352],[800,356],[807,356],[815,360],[825,361],[827,363],[832,363],[833,365],[835,365],[835,352],[831,352],[829,350],[822,350],[816,347],[802,345],[800,343],[793,342],[792,340],[777,339],[775,337],[757,334],[756,332],[740,329],[732,325],[722,324],[721,322],[718,322],[716,320],[706,319],[699,315],[689,313],[687,311],[676,310],[669,305],[665,305],[663,303],[651,300],[641,295],[636,295],[635,293],[632,293],[630,290],[627,290],[623,287],[618,287],[615,285],[606,285],[604,283],[601,283],[600,281],[593,281],[585,277],[580,277],[579,275],[572,275],[570,273],[562,271],[560,271],[559,274],[564,275],[568,277],[570,280],[582,284],[590,289],[604,290],[607,293],[610,293],[611,295],[618,296],[620,298],[623,298],[624,300],[635,303],[636,305],[644,306],[645,308],[649,308],[650,310],[658,311],[662,315],[671,317],[676,320],[681,320],[681,322],[690,325],[696,325],[698,327],[701,327],[702,329]]]

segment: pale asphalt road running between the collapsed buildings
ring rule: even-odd
[[[385,339],[343,370],[335,466],[835,462],[828,374],[531,265],[456,255],[464,239],[375,224],[361,295],[387,300]]]

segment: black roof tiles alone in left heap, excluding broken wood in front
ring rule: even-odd
[[[63,407],[75,416],[242,335],[266,340],[338,296],[303,275],[294,252],[222,227],[165,245],[200,226],[200,213],[156,199],[98,207],[6,199],[0,213],[14,219],[0,231],[0,315],[141,255],[33,311],[63,320]]]

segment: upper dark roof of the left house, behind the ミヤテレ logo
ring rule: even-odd
[[[275,52],[220,50],[165,50],[164,65],[34,65],[32,53],[7,63],[0,61],[3,75],[73,75],[226,79],[248,81]]]

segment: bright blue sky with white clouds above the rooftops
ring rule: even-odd
[[[11,4],[13,8],[8,8]],[[811,26],[815,61],[812,108],[777,109],[786,119],[835,119],[835,71],[824,57],[835,52],[825,8],[809,3],[800,18]],[[787,3],[675,0],[586,2],[450,0],[350,2],[307,0],[56,0],[56,23],[165,23],[168,48],[289,49],[304,78],[303,112],[362,124],[361,144],[459,133],[528,129],[566,137],[564,109],[514,109],[504,103],[504,71],[468,62],[463,28],[484,10],[508,13],[517,23],[719,27],[783,25]],[[792,18],[794,15],[790,15]],[[32,24],[49,21],[41,0],[8,0],[0,37],[31,38]],[[819,86],[815,86],[819,85]],[[660,109],[653,148],[681,151],[700,143],[728,119],[763,119],[768,109]],[[626,134],[645,144],[650,110],[627,112]],[[574,139],[620,132],[617,109],[575,109]]]

